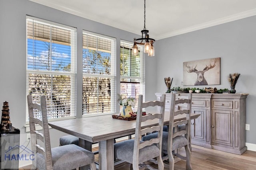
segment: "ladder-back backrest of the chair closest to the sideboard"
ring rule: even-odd
[[[191,104],[191,93],[187,95],[182,94],[182,96],[180,94],[171,93],[169,132],[172,133],[168,135],[168,148],[172,147],[173,138],[183,135],[188,141],[187,144],[189,144]],[[174,122],[174,116],[180,114],[186,114],[186,119]],[[185,129],[178,131],[178,125],[185,125]]]

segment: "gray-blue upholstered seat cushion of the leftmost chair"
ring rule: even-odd
[[[52,148],[54,170],[71,170],[94,162],[94,154],[74,144]],[[37,153],[36,167],[46,170],[44,156]]]

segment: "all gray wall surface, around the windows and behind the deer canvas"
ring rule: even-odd
[[[115,37],[117,57],[120,53],[118,46],[120,39],[132,41],[134,37],[140,36],[28,0],[0,0],[0,103],[9,102],[13,126],[18,127],[22,134],[25,134],[27,95],[26,15],[76,27],[78,31],[78,64],[79,61],[80,64],[82,63],[83,29]],[[164,77],[174,77],[173,85],[180,84],[183,62],[221,57],[221,85],[216,87],[229,88],[228,74],[233,72],[242,74],[236,85],[236,90],[238,93],[250,93],[246,104],[246,123],[250,124],[251,130],[246,131],[246,142],[256,144],[256,135],[252,130],[256,128],[253,107],[256,102],[256,91],[254,90],[255,30],[256,17],[250,17],[158,40],[155,45],[156,56],[146,57],[146,101],[155,100],[155,92],[166,92]],[[117,60],[118,65],[119,61]],[[118,69],[117,72],[119,72]],[[82,70],[77,72],[77,110],[78,117],[81,117]],[[118,79],[120,76],[117,75],[117,81]],[[118,83],[117,90],[120,90]],[[58,139],[64,134],[54,129],[51,129],[50,133],[52,147],[58,146]],[[20,143],[26,143],[25,135],[21,136]]]

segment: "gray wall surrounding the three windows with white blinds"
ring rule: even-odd
[[[82,30],[100,33],[116,38],[117,58],[120,54],[120,39],[133,41],[133,33],[116,29],[101,23],[74,16],[59,10],[48,8],[28,0],[0,0],[0,103],[9,102],[10,118],[14,127],[21,130],[20,144],[26,144],[25,121],[26,121],[26,15],[34,16],[64,25],[77,28],[78,33],[78,66],[77,70],[77,116],[82,117]],[[140,30],[138,30],[140,33]],[[146,65],[152,65],[155,59],[146,59]],[[117,66],[120,61],[117,60]],[[147,69],[147,68],[146,68]],[[117,73],[120,68],[117,67]],[[152,73],[151,73],[152,72]],[[154,70],[146,74],[154,75]],[[118,81],[119,80],[119,81]],[[152,81],[152,82],[150,82]],[[117,82],[120,76],[117,74]],[[146,84],[153,84],[148,79]],[[120,91],[120,84],[117,83],[117,92]],[[146,89],[146,94],[149,92]],[[2,108],[2,106],[0,106]],[[118,108],[118,107],[117,107]],[[64,135],[59,131],[50,129],[52,147],[58,146],[59,137]]]

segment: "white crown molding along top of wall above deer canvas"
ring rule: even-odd
[[[202,24],[194,25],[192,27],[187,27],[187,28],[184,28],[184,29],[179,29],[179,30],[172,31],[172,32],[169,32],[169,33],[166,33],[166,34],[162,34],[162,35],[157,37],[157,40],[164,39],[164,38],[167,38],[167,37],[173,37],[175,35],[180,35],[180,34],[192,32],[192,31],[196,31],[196,30],[199,30],[199,29],[212,27],[212,26],[215,26],[215,25],[220,25],[222,23],[227,23],[227,22],[230,22],[230,21],[240,20],[240,19],[247,18],[247,17],[250,17],[250,16],[255,16],[255,15],[256,15],[256,9],[249,10],[249,11],[246,11],[246,12],[241,12],[241,13],[234,14],[234,15],[231,15],[231,16],[228,16],[228,17],[220,18],[218,20],[212,20],[212,21],[205,22],[205,23],[202,23]]]

